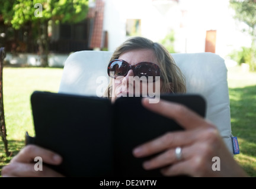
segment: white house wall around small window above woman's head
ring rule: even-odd
[[[177,9],[172,4],[165,11],[159,11],[152,0],[105,0],[103,30],[108,31],[108,50],[123,43],[126,36],[126,19],[141,19],[142,36],[153,41],[159,41],[174,28],[179,17]],[[171,11],[173,9],[173,11]],[[174,15],[174,16],[170,16]],[[166,17],[167,16],[167,17]]]

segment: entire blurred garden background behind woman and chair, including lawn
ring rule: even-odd
[[[170,53],[211,52],[225,59],[232,132],[241,148],[235,158],[255,177],[255,9],[256,0],[0,0],[6,53],[0,170],[24,145],[25,131],[34,134],[31,93],[57,92],[71,53],[114,51],[142,36]]]

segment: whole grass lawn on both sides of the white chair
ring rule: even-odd
[[[34,135],[30,95],[34,90],[57,92],[61,68],[4,67],[4,111],[10,157],[6,157],[0,141],[0,171],[2,166],[24,146],[24,135]],[[240,67],[228,70],[231,99],[232,133],[238,137],[240,154],[235,159],[252,177],[256,177],[256,73],[245,73]]]

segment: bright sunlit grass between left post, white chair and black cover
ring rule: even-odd
[[[62,71],[53,68],[4,68],[4,111],[8,140],[24,139],[25,131],[34,135],[30,95],[34,90],[57,92]]]

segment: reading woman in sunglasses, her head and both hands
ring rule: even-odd
[[[118,60],[117,60],[118,59]],[[111,73],[112,72],[112,73]],[[113,53],[108,74],[113,78],[105,95],[114,102],[119,96],[127,96],[131,89],[143,92],[143,80],[136,83],[134,77],[145,76],[147,87],[159,88],[161,93],[185,93],[185,80],[180,69],[167,50],[158,43],[142,37],[130,38]],[[149,77],[153,77],[152,80]],[[157,79],[158,77],[158,79]],[[150,81],[149,81],[150,80]],[[132,86],[132,87],[130,87]],[[147,93],[149,89],[147,88]],[[136,93],[133,90],[133,93]],[[217,128],[193,111],[177,103],[160,100],[150,103],[142,99],[142,105],[167,118],[174,119],[184,131],[166,133],[159,138],[137,146],[133,155],[137,158],[158,154],[143,163],[145,170],[161,168],[165,176],[190,175],[192,177],[247,177],[233,159]],[[62,177],[44,166],[34,170],[34,157],[41,157],[47,164],[58,165],[62,157],[48,149],[27,145],[2,169],[3,177]],[[215,170],[212,159],[221,160],[220,170]]]

